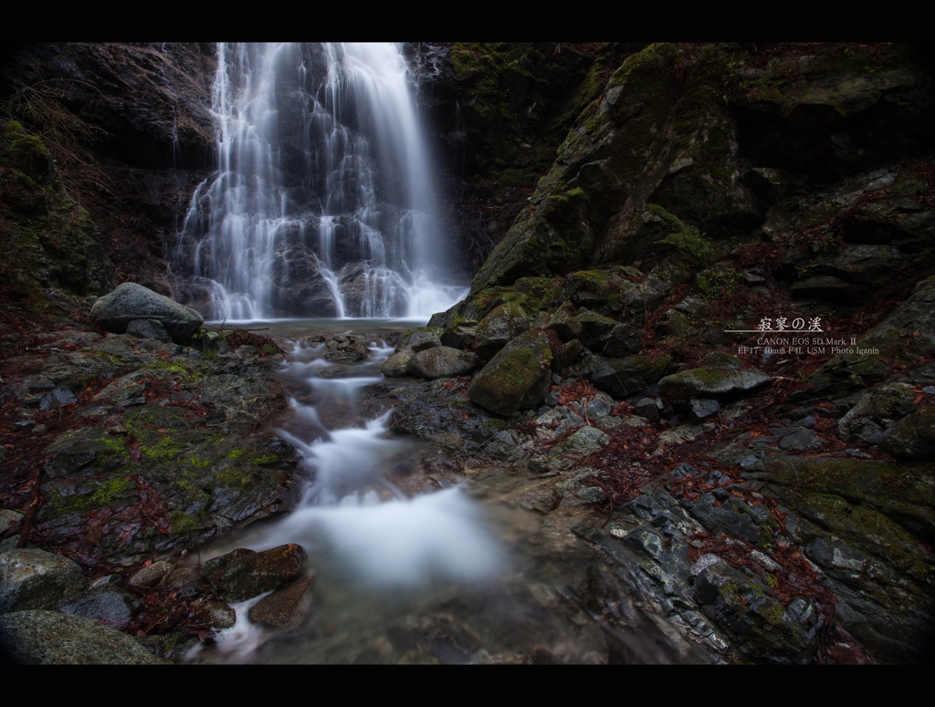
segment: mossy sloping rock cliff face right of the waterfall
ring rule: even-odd
[[[689,249],[667,214],[703,233],[694,250],[710,257],[774,236],[762,228],[779,210],[922,157],[929,82],[899,47],[644,49],[576,120],[473,291],[592,265],[649,272]]]

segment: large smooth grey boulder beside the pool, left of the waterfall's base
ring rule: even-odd
[[[126,332],[130,322],[136,319],[161,322],[176,343],[189,341],[205,322],[191,307],[136,282],[124,282],[116,290],[97,298],[91,307],[91,320],[108,332]]]

